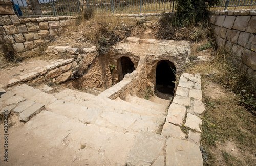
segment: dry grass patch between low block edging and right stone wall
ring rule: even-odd
[[[234,141],[242,151],[249,151],[250,154],[256,152],[256,116],[253,115],[256,103],[253,96],[256,91],[255,82],[242,70],[234,67],[228,56],[223,49],[218,49],[212,55],[212,61],[190,63],[186,68],[188,73],[201,74],[203,87],[208,82],[216,82],[226,88],[225,96],[217,99],[212,99],[202,89],[206,111],[202,114],[201,145],[210,154],[205,165],[218,165],[211,148],[227,140]],[[250,103],[242,102],[245,99],[240,93],[242,89],[246,89],[246,95],[252,98]],[[242,159],[236,158],[233,162],[233,156],[227,153],[223,152],[222,157],[227,165],[254,164],[250,157],[243,152],[242,154]]]

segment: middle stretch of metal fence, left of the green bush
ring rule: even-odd
[[[87,7],[96,13],[142,13],[175,11],[173,0],[86,0]]]

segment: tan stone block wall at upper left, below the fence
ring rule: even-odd
[[[15,51],[34,51],[77,16],[18,18],[10,0],[0,0],[0,42],[13,45]]]

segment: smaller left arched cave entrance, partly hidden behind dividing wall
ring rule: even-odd
[[[126,75],[127,73],[132,73],[135,68],[134,68],[134,64],[131,61],[131,59],[129,57],[121,57],[119,58],[119,76],[118,76],[118,80],[121,81],[124,78],[124,75]]]

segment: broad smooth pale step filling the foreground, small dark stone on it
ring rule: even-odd
[[[122,133],[97,125],[84,124],[46,110],[37,114],[18,132],[12,133],[12,136],[18,137],[18,133],[28,134],[29,144],[33,147],[45,145],[37,152],[38,156],[44,156],[40,159],[42,162],[47,163],[51,157],[55,159],[55,164],[58,164],[55,152],[61,151],[67,154],[61,158],[62,163],[69,165],[74,164],[75,158],[75,164],[82,160],[86,165],[125,165],[136,137],[136,133]],[[17,143],[13,141],[12,147],[17,154],[26,156],[28,153],[19,147],[27,144],[26,140],[19,140]],[[15,165],[16,160],[10,162],[11,165]],[[26,165],[28,162],[33,161],[19,163]]]

